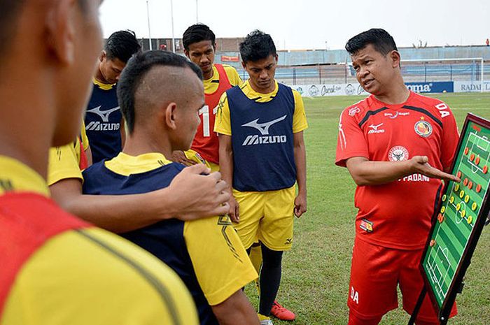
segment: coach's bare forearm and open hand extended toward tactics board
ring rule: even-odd
[[[346,160],[346,166],[358,186],[386,184],[414,173],[460,181],[456,176],[430,166],[426,156],[414,156],[407,161],[370,161],[366,157],[352,157]]]

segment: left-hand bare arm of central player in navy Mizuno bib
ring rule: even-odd
[[[220,141],[220,171],[223,180],[228,184],[228,192],[230,193],[230,218],[232,222],[240,222],[240,210],[235,197],[233,197],[232,185],[233,185],[233,148],[232,137],[225,134],[219,135]]]

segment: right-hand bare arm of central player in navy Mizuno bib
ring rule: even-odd
[[[297,196],[294,201],[294,214],[299,218],[304,212],[307,211],[306,147],[304,146],[303,131],[294,133],[293,144],[297,182]]]

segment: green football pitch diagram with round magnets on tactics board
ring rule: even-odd
[[[469,120],[460,143],[452,173],[461,182],[445,187],[422,261],[439,308],[455,280],[489,189],[490,129]]]

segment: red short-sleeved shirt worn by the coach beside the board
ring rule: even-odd
[[[457,144],[454,115],[442,101],[410,92],[405,103],[388,105],[371,95],[342,112],[335,164],[345,166],[351,157],[403,161],[424,155],[444,170]],[[440,180],[420,174],[357,187],[356,236],[385,247],[423,248],[441,190]]]

